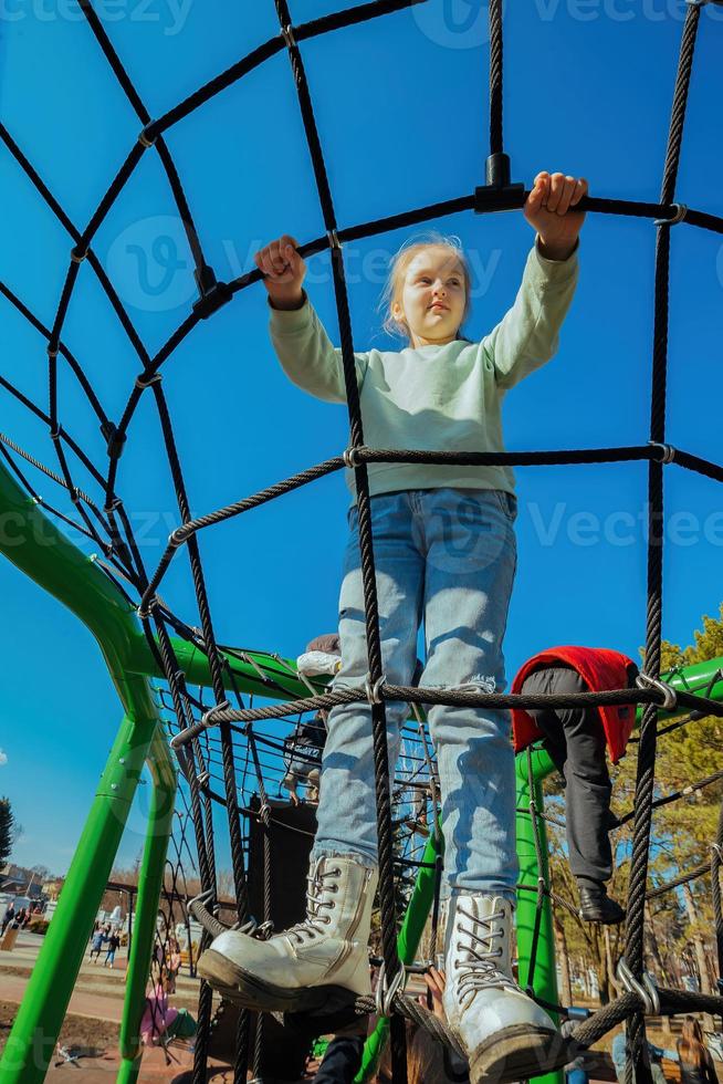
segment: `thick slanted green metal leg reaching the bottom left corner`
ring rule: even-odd
[[[0,1084],[41,1084],[115,859],[156,719],[126,716],[0,1062]]]

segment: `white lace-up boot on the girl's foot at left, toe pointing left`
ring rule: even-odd
[[[310,868],[306,918],[263,941],[226,930],[198,961],[198,973],[238,1004],[269,1012],[321,1008],[323,988],[370,993],[367,945],[377,869],[349,857]]]

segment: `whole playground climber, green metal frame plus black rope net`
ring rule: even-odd
[[[513,703],[524,706],[534,702],[530,698],[514,698],[496,694],[452,692],[450,690],[442,690],[439,694],[430,694],[429,690],[426,690],[421,694],[418,689],[392,687],[384,682],[379,629],[375,616],[376,583],[367,465],[369,462],[405,461],[405,459],[410,458],[410,451],[368,448],[364,442],[364,429],[355,381],[354,346],[345,285],[343,246],[347,240],[370,237],[387,230],[438,219],[449,213],[460,211],[491,213],[521,208],[527,195],[524,191],[524,186],[510,183],[510,159],[503,149],[502,4],[500,0],[492,0],[490,3],[490,50],[492,59],[490,66],[490,155],[486,163],[486,184],[475,188],[472,195],[465,195],[459,199],[447,200],[349,229],[339,228],[303,66],[301,45],[305,40],[321,33],[349,27],[405,7],[411,7],[415,2],[417,0],[377,0],[377,2],[364,3],[345,12],[293,25],[285,0],[277,0],[276,9],[281,28],[279,35],[260,45],[249,56],[243,58],[206,86],[200,87],[165,116],[154,121],[133,86],[92,3],[90,0],[78,0],[80,10],[107,58],[142,127],[137,143],[129,150],[120,170],[82,231],[72,223],[10,133],[0,126],[0,138],[7,149],[24,170],[40,196],[73,240],[67,275],[55,320],[50,331],[45,330],[33,317],[32,313],[9,288],[4,285],[1,288],[4,298],[20,313],[31,320],[39,334],[46,340],[50,378],[49,413],[44,414],[34,404],[30,404],[4,378],[2,378],[2,387],[9,394],[15,395],[46,423],[57,457],[60,475],[43,468],[32,457],[25,456],[25,458],[30,458],[35,467],[45,470],[45,473],[50,475],[51,478],[65,486],[75,505],[77,525],[83,533],[95,541],[102,559],[95,562],[88,561],[70,545],[60,530],[52,528],[52,525],[49,527],[42,509],[50,512],[54,510],[46,502],[40,500],[32,484],[23,476],[19,460],[24,454],[8,437],[3,437],[0,442],[0,452],[2,452],[9,468],[2,467],[0,471],[0,510],[12,513],[17,518],[15,522],[28,530],[24,532],[22,544],[3,545],[3,550],[10,560],[42,584],[44,590],[62,600],[92,629],[104,653],[125,710],[120,730],[103,773],[78,852],[71,867],[61,905],[54,916],[43,948],[42,966],[35,969],[0,1063],[1,1084],[11,1084],[11,1082],[12,1084],[15,1082],[31,1084],[31,1082],[41,1081],[44,1076],[55,1036],[67,1005],[72,980],[80,966],[92,919],[97,908],[99,893],[107,878],[139,773],[146,763],[151,774],[153,802],[144,853],[136,934],[128,970],[122,1029],[123,1063],[118,1078],[124,1082],[132,1082],[137,1077],[140,1063],[137,1026],[145,997],[151,940],[156,928],[156,909],[161,890],[164,858],[170,834],[176,793],[176,769],[159,723],[161,711],[168,709],[168,698],[170,698],[175,715],[172,725],[175,731],[174,748],[190,792],[190,807],[200,879],[205,893],[206,915],[208,917],[209,908],[212,910],[216,896],[214,843],[212,817],[209,810],[212,803],[220,803],[226,806],[228,816],[235,892],[235,917],[240,923],[244,923],[249,918],[244,844],[241,831],[242,816],[249,815],[249,812],[239,804],[239,769],[234,754],[234,736],[242,734],[249,740],[250,757],[256,769],[261,809],[266,810],[264,771],[259,758],[260,742],[254,738],[254,726],[264,720],[287,718],[290,707],[286,701],[290,699],[294,700],[294,712],[303,712],[321,707],[332,707],[334,703],[340,702],[343,698],[342,692],[325,691],[319,682],[313,681],[310,687],[308,684],[300,681],[293,666],[283,659],[263,653],[234,652],[218,645],[197,544],[197,536],[200,531],[210,529],[231,517],[243,514],[268,500],[303,487],[316,478],[342,469],[344,466],[354,470],[359,509],[360,544],[366,559],[365,595],[367,600],[369,681],[371,689],[378,692],[378,696],[375,697],[373,720],[375,761],[378,765],[383,955],[385,974],[389,982],[399,974],[400,956],[405,957],[412,952],[411,945],[417,936],[419,919],[423,914],[423,903],[413,904],[405,929],[405,937],[408,937],[408,940],[406,944],[402,941],[401,945],[398,945],[395,923],[396,855],[392,833],[392,798],[388,785],[390,769],[391,774],[394,774],[394,765],[387,763],[386,755],[385,701],[397,699],[413,706],[421,705],[425,700],[430,701],[432,696],[437,696],[443,702],[457,706],[501,708],[510,707]],[[627,944],[624,960],[625,969],[621,972],[625,976],[628,992],[617,998],[611,1005],[594,1014],[590,1020],[580,1024],[576,1030],[576,1039],[583,1044],[589,1044],[620,1020],[629,1018],[628,1036],[639,1080],[646,1075],[643,1057],[646,1012],[651,1012],[658,1007],[669,1013],[693,1009],[704,1009],[716,1013],[723,1011],[723,999],[704,998],[682,991],[651,991],[645,984],[642,973],[643,906],[650,819],[653,809],[658,718],[659,716],[666,717],[666,713],[673,717],[679,711],[723,715],[720,702],[720,660],[713,660],[708,667],[695,673],[670,676],[661,676],[660,674],[664,524],[663,467],[677,463],[715,481],[723,481],[721,466],[673,448],[666,440],[668,269],[671,229],[674,225],[684,221],[689,226],[703,228],[715,233],[723,232],[722,219],[702,211],[691,210],[675,202],[675,180],[682,145],[688,87],[700,13],[704,2],[705,0],[689,4],[682,29],[680,63],[660,202],[588,198],[584,206],[580,205],[580,209],[599,213],[653,219],[658,230],[652,396],[648,442],[625,448],[549,452],[526,451],[499,456],[471,452],[434,452],[423,456],[417,452],[415,455],[417,461],[455,462],[465,466],[493,462],[504,462],[510,466],[583,465],[614,461],[645,461],[648,463],[650,498],[648,626],[646,637],[646,677],[648,684],[645,688],[633,691],[611,690],[606,694],[585,694],[574,698],[575,703],[587,705],[635,701],[643,709],[638,749],[638,785]],[[716,0],[712,0],[712,2],[716,2]],[[203,256],[202,244],[164,135],[174,124],[201,107],[216,94],[222,93],[226,87],[260,63],[284,50],[287,51],[294,72],[325,225],[325,234],[302,246],[300,251],[302,256],[310,256],[326,249],[331,251],[334,288],[339,310],[350,444],[343,456],[334,457],[324,463],[302,471],[233,505],[193,518],[174,439],[171,418],[160,383],[163,366],[172,351],[197,329],[202,320],[212,317],[239,291],[258,282],[260,272],[253,271],[243,274],[233,282],[217,280],[213,269]],[[154,357],[149,356],[140,343],[128,314],[92,248],[94,237],[115,199],[147,153],[159,155],[168,177],[170,189],[187,231],[199,286],[199,298],[191,312]],[[104,413],[82,367],[62,340],[63,326],[73,291],[81,267],[86,261],[87,267],[97,277],[126,331],[140,366],[140,373],[130,390],[127,406],[117,424]],[[77,377],[92,409],[98,417],[107,442],[108,465],[105,471],[98,470],[91,462],[83,449],[64,431],[61,424],[57,414],[57,371],[59,365],[63,363],[67,364]],[[166,553],[153,571],[146,570],[144,565],[123,499],[116,491],[118,460],[127,438],[128,427],[144,395],[153,396],[158,411],[181,520],[181,525],[171,535]],[[104,493],[102,509],[74,483],[71,470],[73,457],[76,457],[84,465],[101,487]],[[14,477],[11,476],[10,470]],[[21,486],[24,487],[24,491]],[[61,518],[66,519],[66,517]],[[39,529],[42,527],[44,539],[49,536],[50,530],[53,544],[38,546],[36,542],[33,541],[33,527]],[[169,613],[158,595],[169,565],[181,549],[186,549],[188,552],[191,564],[201,621],[200,633],[190,629],[180,618]],[[137,602],[139,605],[136,604]],[[166,688],[151,686],[150,677],[161,678]],[[210,707],[199,701],[190,692],[188,685],[195,682],[210,689],[212,697]],[[245,707],[242,701],[243,695],[263,696],[284,702],[262,708]],[[367,697],[367,692],[365,689],[358,689],[344,696],[346,699],[363,700]],[[237,701],[238,707],[231,707],[231,699]],[[563,705],[567,703],[568,700],[567,698],[557,698],[554,702]],[[221,768],[220,790],[212,785],[209,770],[209,750],[211,749],[214,750],[216,761]],[[549,768],[551,765],[544,754],[538,751],[524,754],[517,761],[518,805],[524,810],[523,813],[518,814],[523,864],[518,926],[523,981],[526,979],[531,982],[536,996],[543,1002],[551,1004],[553,1011],[556,1011],[560,1007],[557,1004],[557,991],[554,981],[549,898],[545,889],[547,879],[545,826],[539,815],[542,807],[539,785],[542,778]],[[723,840],[719,843],[723,843]],[[430,846],[432,845],[433,837],[430,842]],[[431,853],[428,857],[431,859]],[[719,946],[723,946],[723,917],[721,917],[720,892],[716,889],[717,862],[719,859],[714,854],[711,871],[713,874],[716,925],[721,935]],[[415,897],[417,900],[427,898],[431,880],[428,876],[428,868],[429,863],[425,863],[420,871],[417,896]],[[721,961],[721,970],[723,972],[723,960]],[[429,1013],[416,1007],[409,998],[406,998],[404,992],[399,991],[394,997],[388,990],[387,992],[392,1012],[389,1028],[392,1041],[395,1081],[404,1082],[404,1031],[400,1026],[400,1015],[412,1017],[417,1023],[428,1028],[440,1041],[449,1041],[449,1036],[446,1035],[443,1025],[431,1019]],[[360,1003],[356,1008],[359,1012],[364,1012],[371,1011],[374,1005],[368,1003],[368,999],[366,1001],[360,999]],[[235,1062],[238,1078],[244,1078],[250,1053],[247,1038],[247,1015],[245,1013],[241,1014],[239,1029]],[[199,1033],[196,1044],[196,1082],[205,1078],[210,1020],[211,991],[206,984],[202,984],[199,1003]],[[369,1054],[374,1054],[374,1051]]]

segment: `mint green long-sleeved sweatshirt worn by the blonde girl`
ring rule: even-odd
[[[578,277],[577,252],[527,257],[515,303],[479,343],[355,353],[364,440],[369,448],[504,451],[502,400],[509,388],[555,354]],[[328,340],[307,298],[301,309],[271,308],[276,356],[294,384],[327,403],[345,403],[342,351]],[[369,491],[502,489],[509,467],[369,463]],[[347,483],[354,496],[353,471]]]

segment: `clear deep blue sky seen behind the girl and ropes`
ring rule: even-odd
[[[354,4],[292,4],[305,21]],[[594,195],[657,199],[685,4],[674,0],[533,0],[505,7],[505,145],[513,179],[539,169],[584,175]],[[158,116],[277,32],[269,0],[105,0],[106,30],[149,112]],[[468,0],[426,4],[303,45],[339,226],[472,191],[484,176],[486,12]],[[717,178],[723,121],[723,9],[701,13],[678,198],[723,215]],[[95,209],[138,132],[72,0],[6,0],[0,14],[0,105],[10,133],[78,227]],[[219,278],[290,232],[323,232],[294,84],[284,53],[168,135],[196,223]],[[0,149],[0,278],[52,323],[71,242],[10,155]],[[430,223],[458,234],[476,279],[468,335],[481,337],[512,304],[532,231],[518,212]],[[347,246],[357,348],[394,348],[376,303],[407,232]],[[672,238],[668,434],[720,460],[723,247],[679,226]],[[153,352],[188,312],[192,263],[154,153],[104,222],[94,248]],[[580,282],[560,350],[507,397],[510,449],[645,442],[648,436],[654,228],[588,217]],[[328,257],[308,261],[307,289],[337,340]],[[0,305],[0,372],[46,407],[41,337]],[[138,363],[87,265],[63,338],[117,420]],[[346,414],[284,377],[268,337],[260,284],[198,326],[165,371],[192,510],[200,514],[336,455]],[[94,416],[63,369],[64,427],[99,465]],[[55,466],[39,425],[2,393],[0,429]],[[60,507],[50,481],[34,478]],[[76,480],[96,493],[82,467]],[[517,471],[520,567],[506,638],[510,677],[555,643],[615,646],[645,639],[646,499],[642,465]],[[692,639],[721,601],[720,489],[671,467],[664,635]],[[178,522],[157,417],[148,397],[132,424],[118,490],[155,566]],[[295,656],[336,621],[346,492],[340,476],[307,487],[201,540],[219,639]],[[81,542],[85,549],[85,542]],[[92,546],[87,548],[88,551]],[[197,623],[181,556],[164,595]],[[7,561],[3,600],[0,794],[25,834],[17,861],[66,868],[120,708],[90,634]],[[0,758],[1,760],[2,758]],[[143,789],[142,789],[143,790]],[[142,795],[143,798],[143,795]],[[143,810],[120,857],[140,846]]]

